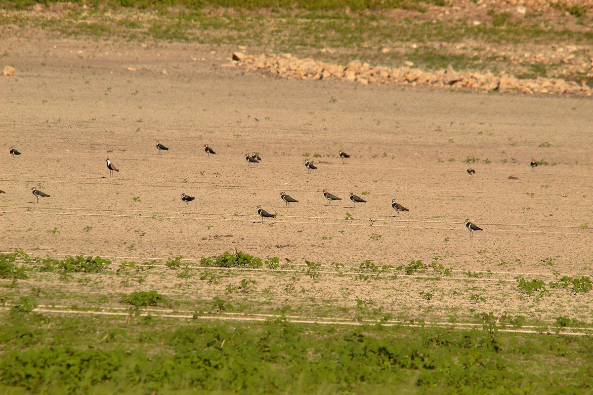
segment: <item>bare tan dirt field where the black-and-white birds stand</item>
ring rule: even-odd
[[[286,81],[221,67],[231,47],[4,44],[17,75],[0,78],[2,251],[114,262],[183,255],[195,267],[237,249],[298,264],[236,274],[258,281],[243,297],[254,311],[289,304],[307,316],[350,317],[359,299],[401,317],[471,308],[593,320],[591,293],[553,290],[535,301],[514,280],[593,274],[591,99]],[[157,140],[170,150],[159,153]],[[11,158],[9,146],[23,155]],[[352,158],[342,164],[339,150]],[[254,151],[262,163],[247,165]],[[311,174],[305,154],[319,168]],[[107,158],[120,169],[113,178]],[[532,171],[532,158],[549,164]],[[51,197],[34,204],[31,187]],[[326,188],[343,200],[328,204]],[[281,191],[299,203],[285,207]],[[353,207],[349,192],[368,203]],[[181,193],[196,200],[184,207]],[[393,198],[410,211],[396,217]],[[278,216],[261,223],[257,205]],[[470,239],[466,218],[484,231]],[[367,259],[399,266],[436,256],[454,269],[450,279],[391,269],[355,280]],[[541,261],[550,257],[553,266]],[[304,273],[305,260],[322,265],[319,277]],[[342,276],[334,262],[345,265]],[[229,283],[176,274],[157,270],[130,288],[113,275],[93,280],[100,287],[45,281],[81,300],[137,288],[192,303],[224,295]],[[475,294],[486,300],[476,306]]]

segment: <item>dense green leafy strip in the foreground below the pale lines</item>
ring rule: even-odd
[[[593,387],[593,344],[586,338],[23,311],[2,321],[5,393],[368,394],[383,393],[387,384],[394,393],[523,394]]]

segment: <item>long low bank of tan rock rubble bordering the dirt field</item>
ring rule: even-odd
[[[411,63],[408,63],[411,64]],[[572,94],[591,97],[593,89],[586,84],[561,78],[518,79],[512,75],[491,72],[456,72],[451,66],[436,72],[404,66],[388,68],[371,66],[353,60],[346,66],[331,65],[313,59],[298,59],[291,54],[281,56],[232,54],[229,66],[243,67],[247,71],[262,71],[287,79],[334,79],[362,85],[398,84],[409,86],[435,86],[439,88],[477,92],[522,92],[525,94]]]

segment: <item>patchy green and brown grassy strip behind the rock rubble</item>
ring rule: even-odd
[[[400,4],[397,1],[385,3],[385,7]],[[401,2],[409,3],[420,4]],[[244,7],[237,5],[238,10],[225,8],[216,12],[200,8],[205,4],[202,2],[181,11],[164,7],[177,3],[149,2],[146,7],[150,12],[118,8],[138,5],[136,2],[122,0],[110,4],[114,8],[71,7],[57,15],[6,12],[0,16],[0,23],[33,31],[41,27],[57,37],[263,47],[270,52],[288,52],[339,64],[361,59],[373,65],[402,66],[407,60],[427,71],[452,65],[456,70],[505,71],[521,78],[591,79],[581,66],[569,67],[588,63],[593,57],[591,50],[579,50],[578,59],[573,65],[567,65],[560,58],[551,59],[554,52],[549,48],[558,43],[585,46],[593,41],[593,31],[511,17],[496,11],[490,15],[490,23],[474,25],[469,20],[394,19],[381,12],[339,12],[329,6],[331,2],[327,2],[327,8],[311,3],[310,9],[296,10],[282,7],[280,3],[280,7],[273,7],[269,14],[250,11],[249,2],[241,2]],[[218,3],[208,3],[213,4]],[[220,4],[235,5],[234,2]],[[372,1],[364,4],[371,9],[375,7]],[[256,5],[260,6],[253,3],[253,8],[257,8]],[[21,8],[18,4],[12,7],[13,10]],[[253,34],[254,31],[259,33]],[[389,50],[384,51],[385,47]],[[537,59],[523,58],[525,52],[534,51],[544,54]]]

